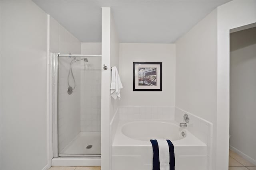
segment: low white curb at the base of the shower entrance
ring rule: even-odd
[[[100,166],[100,158],[53,158],[52,166]]]

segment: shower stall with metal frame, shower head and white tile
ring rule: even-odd
[[[100,158],[101,55],[55,54],[53,63],[54,157]]]

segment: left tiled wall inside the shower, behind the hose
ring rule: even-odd
[[[72,64],[73,74],[76,80],[76,88],[69,95],[68,71],[70,61],[68,57],[59,58],[59,80],[58,80],[58,150],[61,153],[80,132],[80,71],[78,63]],[[74,82],[70,76],[70,85],[74,87]]]

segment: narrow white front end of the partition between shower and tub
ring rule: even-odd
[[[110,66],[110,8],[102,7],[102,64]],[[101,170],[110,170],[110,69],[101,74]]]

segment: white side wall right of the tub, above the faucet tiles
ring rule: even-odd
[[[176,41],[176,107],[213,123],[213,143],[216,143],[216,100],[217,10],[214,10]]]

